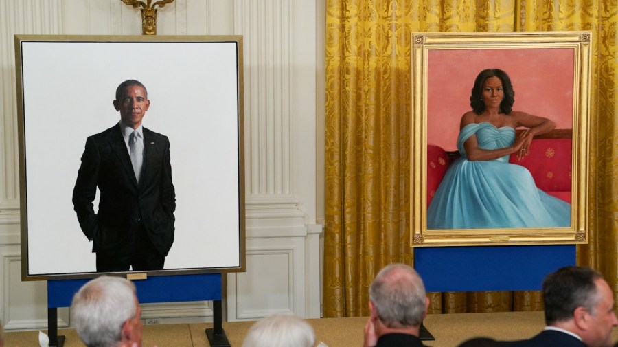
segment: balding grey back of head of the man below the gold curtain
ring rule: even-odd
[[[425,286],[408,265],[392,264],[380,270],[369,287],[369,298],[389,328],[419,326],[425,316]]]

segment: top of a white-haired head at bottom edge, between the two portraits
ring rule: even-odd
[[[295,315],[271,315],[249,328],[242,347],[313,347],[315,333]]]

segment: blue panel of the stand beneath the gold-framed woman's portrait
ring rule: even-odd
[[[575,265],[575,245],[414,249],[428,292],[538,291],[548,273],[567,265]]]

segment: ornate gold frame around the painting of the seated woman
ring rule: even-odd
[[[559,245],[588,242],[588,131],[591,85],[590,31],[411,34],[411,247]],[[573,178],[571,226],[501,229],[427,229],[428,60],[432,50],[571,49],[573,52]]]

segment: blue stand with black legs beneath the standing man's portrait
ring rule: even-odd
[[[73,295],[90,279],[49,280],[47,282],[47,316],[49,346],[62,347],[64,336],[58,336],[58,307],[71,306]],[[211,346],[229,346],[222,328],[221,274],[152,276],[135,280],[139,302],[185,302],[212,300],[213,328],[206,329]]]

